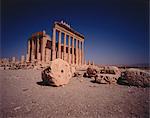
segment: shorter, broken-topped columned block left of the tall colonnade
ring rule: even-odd
[[[28,49],[26,55],[26,62],[49,62],[51,53],[50,50],[46,48],[47,40],[50,41],[48,35],[45,31],[42,33],[42,39],[40,36],[31,38],[28,40]]]

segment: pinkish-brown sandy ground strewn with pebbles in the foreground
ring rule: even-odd
[[[148,118],[149,88],[72,78],[43,86],[39,70],[0,70],[2,118]]]

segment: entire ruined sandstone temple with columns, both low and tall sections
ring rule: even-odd
[[[26,62],[46,62],[61,58],[73,65],[84,64],[84,36],[68,24],[55,22],[52,38],[45,31],[28,39]]]

